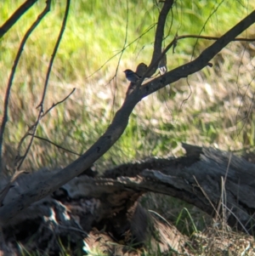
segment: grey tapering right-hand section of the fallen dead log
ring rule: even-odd
[[[231,152],[183,146],[186,156],[124,164],[104,177],[140,177],[141,191],[178,197],[213,217],[224,211],[231,227],[254,232],[255,165]]]

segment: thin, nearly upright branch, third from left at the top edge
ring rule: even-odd
[[[66,0],[65,14],[64,14],[64,19],[63,19],[63,22],[62,22],[61,29],[59,31],[59,37],[58,37],[57,42],[55,44],[53,54],[51,55],[51,59],[49,60],[48,71],[47,71],[47,74],[46,74],[46,79],[45,79],[44,87],[43,87],[42,100],[41,100],[40,104],[37,106],[37,107],[40,108],[40,111],[39,111],[38,116],[37,116],[37,122],[36,122],[35,126],[33,127],[32,135],[31,135],[31,140],[30,140],[30,142],[29,142],[29,144],[28,144],[28,146],[26,148],[26,152],[25,152],[24,156],[22,156],[20,158],[20,163],[18,164],[18,167],[17,167],[18,169],[21,167],[22,163],[26,159],[26,156],[27,156],[28,152],[30,151],[30,148],[31,148],[31,145],[32,145],[32,142],[33,142],[33,139],[34,139],[34,135],[37,132],[38,124],[40,122],[40,119],[42,118],[43,103],[44,103],[44,100],[45,100],[45,95],[46,95],[46,91],[47,91],[47,87],[48,87],[48,78],[49,78],[49,74],[50,74],[51,69],[52,69],[52,65],[54,63],[55,55],[57,54],[57,51],[58,51],[58,48],[59,48],[59,43],[60,43],[61,38],[63,36],[63,33],[65,31],[66,20],[67,20],[67,16],[68,16],[69,9],[70,9],[70,1],[71,0]]]

